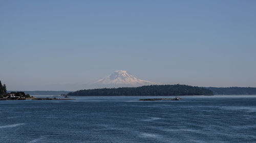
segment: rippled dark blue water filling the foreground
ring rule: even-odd
[[[0,142],[256,142],[256,96],[0,101]]]

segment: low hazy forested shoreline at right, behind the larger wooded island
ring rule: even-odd
[[[240,88],[240,87],[230,87],[230,88],[205,88],[214,92],[215,95],[256,95],[256,88]]]

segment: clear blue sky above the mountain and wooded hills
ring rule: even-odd
[[[256,1],[0,1],[8,90],[78,90],[126,70],[158,83],[256,87]]]

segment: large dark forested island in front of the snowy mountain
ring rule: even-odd
[[[80,90],[68,96],[178,96],[213,95],[212,91],[189,85],[148,85],[138,88]]]

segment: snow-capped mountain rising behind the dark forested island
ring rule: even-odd
[[[118,88],[118,87],[140,87],[143,85],[157,84],[151,81],[139,79],[124,70],[117,70],[114,73],[99,79],[93,83],[100,88]]]

